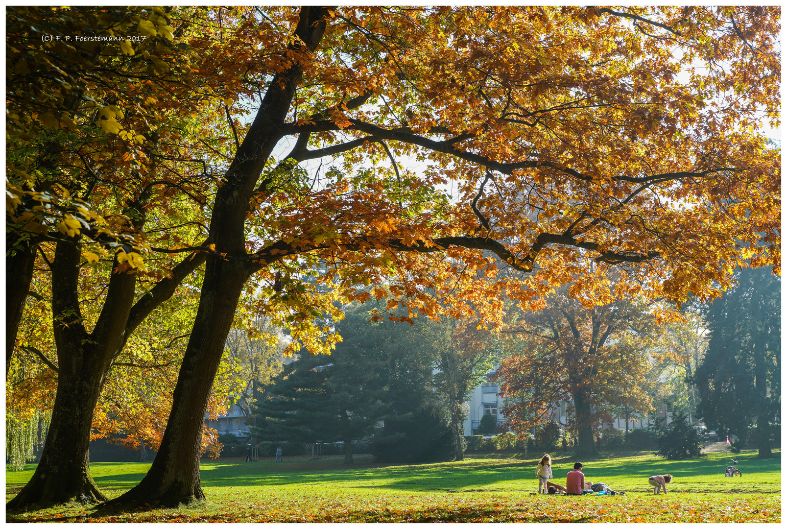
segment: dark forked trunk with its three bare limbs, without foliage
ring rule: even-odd
[[[7,509],[74,499],[106,500],[91,477],[88,463],[93,412],[106,376],[134,329],[205,261],[204,254],[187,257],[172,271],[172,278],[162,279],[136,303],[136,273],[115,261],[102,313],[93,332],[87,334],[79,310],[80,256],[78,240],[57,243],[52,263],[57,395],[39,466]]]

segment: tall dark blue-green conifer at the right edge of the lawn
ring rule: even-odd
[[[771,457],[781,411],[781,281],[763,268],[741,270],[737,280],[705,313],[710,340],[694,375],[696,413],[743,442],[756,425],[758,457]]]

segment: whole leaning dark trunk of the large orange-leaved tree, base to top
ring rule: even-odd
[[[290,49],[301,50],[301,43],[305,43],[310,51],[316,50],[327,26],[327,13],[328,9],[323,7],[301,8],[295,31],[299,43],[292,44]],[[199,477],[205,409],[244,283],[264,264],[253,264],[246,253],[244,224],[249,199],[265,161],[282,138],[279,127],[301,80],[301,68],[296,63],[268,85],[257,116],[227,168],[224,182],[216,193],[208,242],[229,257],[213,257],[205,266],[199,308],[178,374],[161,448],[142,482],[107,505],[129,501],[173,505],[205,498]],[[265,189],[268,184],[260,187]]]

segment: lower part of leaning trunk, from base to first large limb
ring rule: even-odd
[[[199,309],[172,395],[172,411],[161,447],[145,478],[109,505],[134,501],[177,505],[205,499],[199,477],[205,410],[248,277],[243,261],[216,258],[208,261]]]

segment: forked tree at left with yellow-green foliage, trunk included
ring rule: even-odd
[[[156,240],[201,241],[201,197],[212,179],[182,139],[209,91],[188,86],[193,56],[168,46],[178,31],[163,9],[23,6],[7,14],[6,253],[14,273],[6,366],[39,268],[50,275],[47,366],[57,372],[41,461],[9,509],[102,500],[87,457],[107,376],[142,321],[205,260],[179,257],[177,244],[147,263],[140,252]],[[85,28],[101,39],[41,37]],[[119,36],[128,31],[146,39]],[[173,104],[185,115],[172,117]],[[35,352],[34,343],[26,347]]]

